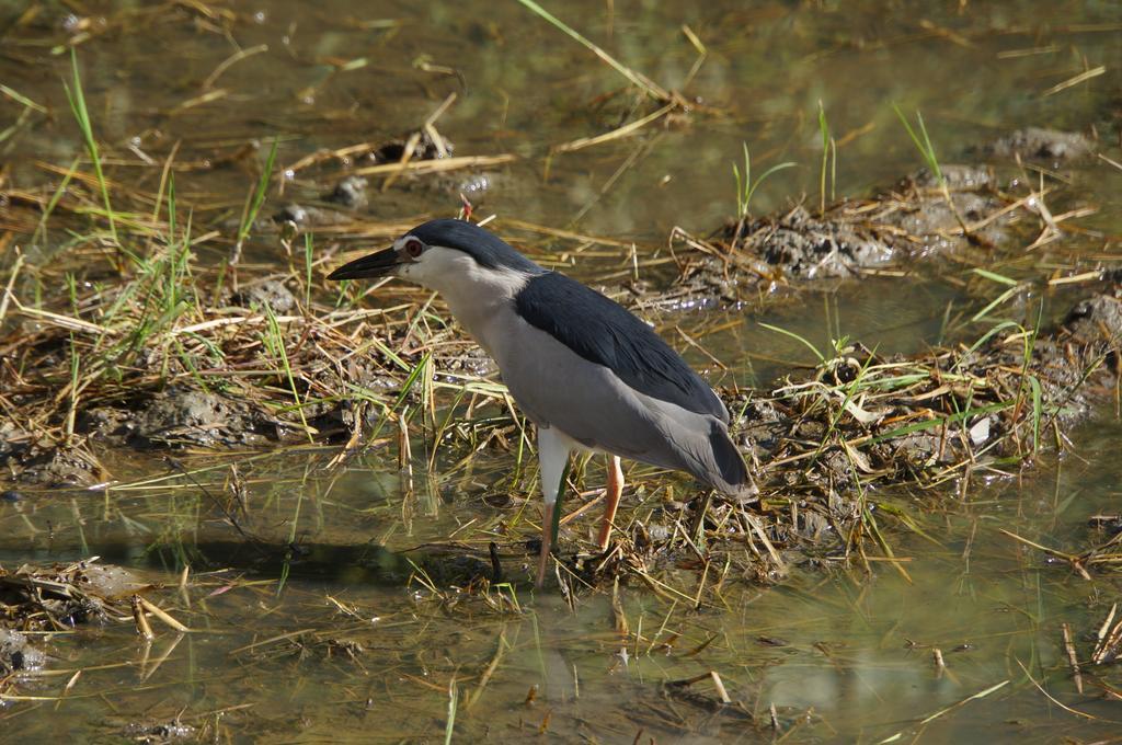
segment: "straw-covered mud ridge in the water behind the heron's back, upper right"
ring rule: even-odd
[[[678,277],[665,293],[642,291],[642,302],[736,304],[761,289],[798,282],[911,268],[918,259],[1009,245],[1020,234],[1014,230],[1019,219],[1036,219],[991,168],[947,165],[940,171],[949,203],[925,168],[890,191],[836,204],[820,215],[798,205],[779,217],[729,222],[707,240],[675,233]]]

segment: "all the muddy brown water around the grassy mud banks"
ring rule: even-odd
[[[817,201],[819,100],[842,142],[839,195],[919,164],[892,102],[923,111],[945,160],[1024,125],[1094,126],[1118,136],[1110,102],[1118,101],[1122,19],[1111,3],[739,6],[565,6],[567,19],[669,88],[686,82],[697,57],[680,30],[689,24],[708,56],[687,93],[714,111],[554,156],[548,169],[551,146],[625,121],[633,99],[599,102],[619,79],[516,3],[471,12],[460,3],[239,3],[232,22],[223,6],[153,12],[148,3],[85,3],[94,37],[80,46],[80,59],[99,134],[126,159],[130,141],[157,159],[176,140],[181,159],[219,159],[280,134],[280,160],[294,163],[321,147],[415,128],[457,92],[438,122],[457,154],[519,156],[486,172],[490,188],[471,193],[480,212],[498,213],[499,226],[511,215],[651,250],[674,226],[703,233],[735,209],[729,164],[742,141],[757,172],[800,163],[761,187],[754,210],[802,193]],[[9,178],[24,187],[50,183],[36,159],[66,164],[80,148],[58,84],[65,57],[50,54],[84,28],[84,16],[72,12],[44,3],[4,40],[4,84],[56,112],[4,145]],[[237,48],[257,45],[268,50],[202,85]],[[352,70],[339,70],[346,62]],[[1098,65],[1105,75],[1046,95]],[[208,90],[222,93],[200,102]],[[6,122],[18,116],[8,99],[2,105]],[[1122,171],[1092,163],[1074,173],[1078,200],[1100,208],[1078,224],[1101,232],[1050,246],[1057,265],[1109,254],[1122,229]],[[120,165],[111,175],[155,188],[150,171]],[[368,209],[386,220],[448,214],[467,176],[399,184]],[[185,173],[180,197],[219,222],[237,214],[251,181],[237,163]],[[302,197],[330,185],[296,178],[286,188]],[[53,246],[65,239],[52,237]],[[268,246],[258,250],[269,257]],[[595,277],[626,264],[625,256],[604,258],[574,273]],[[1029,269],[1014,261],[1002,270]],[[758,320],[820,347],[833,328],[883,351],[910,351],[946,332],[944,319],[957,318],[948,304],[976,309],[966,278],[965,267],[940,266],[912,278],[820,287]],[[715,313],[738,321],[707,340],[727,376],[763,385],[811,361],[756,318]],[[964,323],[958,333],[984,330]],[[513,456],[438,458],[430,479],[419,436],[407,488],[394,453],[367,454],[341,477],[325,469],[334,451],[324,449],[187,456],[191,478],[168,476],[153,459],[109,454],[119,479],[109,490],[27,491],[0,503],[0,562],[100,555],[172,587],[190,564],[191,581],[169,603],[193,632],[178,637],[160,627],[150,644],[127,625],[50,637],[49,675],[20,686],[25,699],[3,703],[0,738],[158,737],[182,725],[185,736],[221,739],[440,742],[450,710],[453,739],[462,742],[1116,736],[1122,708],[1104,692],[1122,688],[1116,670],[1084,675],[1080,693],[1061,645],[1066,623],[1079,659],[1089,656],[1122,595],[1116,576],[1087,581],[1000,530],[1073,553],[1105,540],[1087,521],[1118,514],[1122,427],[1104,412],[1068,435],[1074,454],[1043,459],[1021,478],[985,472],[959,489],[876,495],[922,530],[882,521],[903,571],[885,562],[866,571],[824,549],[813,561],[792,557],[775,588],[725,578],[701,607],[638,587],[619,588],[615,607],[610,591],[580,597],[576,608],[531,592],[523,581],[531,557],[519,541],[533,532],[536,503],[505,496]],[[264,543],[243,540],[217,505],[232,461],[247,482],[241,522]],[[599,477],[594,466],[589,482]],[[460,531],[480,524],[493,528],[516,580],[489,601],[448,589],[489,576],[482,542],[456,544]],[[569,530],[592,528],[583,518]],[[934,649],[945,666],[934,662]],[[721,703],[710,672],[734,703]],[[666,687],[698,677],[706,678]]]

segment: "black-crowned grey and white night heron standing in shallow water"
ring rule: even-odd
[[[729,436],[725,404],[650,325],[611,298],[459,219],[424,222],[328,279],[389,276],[443,298],[537,426],[544,498],[539,588],[573,452],[607,456],[601,551],[610,545],[624,488],[620,458],[686,471],[730,496],[754,488]]]

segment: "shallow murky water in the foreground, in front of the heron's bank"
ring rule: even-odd
[[[865,573],[835,561],[833,569],[795,568],[773,589],[729,578],[701,608],[628,587],[618,590],[619,610],[610,594],[582,597],[570,610],[557,594],[534,595],[522,583],[516,611],[406,583],[420,568],[442,585],[435,572],[448,557],[432,545],[410,558],[399,552],[447,544],[457,527],[480,518],[488,508],[470,481],[494,475],[486,467],[441,485],[447,502],[421,496],[403,506],[393,478],[374,485],[358,467],[329,495],[323,478],[294,478],[291,456],[259,461],[247,470],[247,527],[280,524],[303,505],[301,554],[279,594],[284,537],[260,550],[265,558],[220,525],[197,495],[111,491],[95,505],[36,497],[0,516],[8,535],[0,561],[100,554],[174,586],[172,562],[182,549],[196,573],[190,610],[181,603],[177,615],[195,631],[182,638],[162,632],[150,644],[128,626],[56,636],[48,649],[62,677],[22,690],[55,696],[71,671],[83,670],[63,705],[66,716],[48,714],[53,701],[12,703],[3,716],[35,737],[73,733],[76,723],[105,733],[182,712],[185,723],[234,737],[439,739],[451,684],[459,691],[456,732],[469,741],[531,737],[544,728],[562,739],[623,742],[642,732],[656,742],[751,742],[771,736],[772,705],[780,728],[795,739],[880,742],[902,732],[908,739],[962,742],[990,728],[987,739],[1100,737],[1114,732],[1104,720],[1118,717],[1118,703],[1103,700],[1091,674],[1086,693],[1076,693],[1060,626],[1069,624],[1077,646],[1088,649],[1119,582],[1083,580],[1000,532],[1075,551],[1093,540],[1088,517],[1116,512],[1122,466],[1111,456],[1122,427],[1096,422],[1074,435],[1088,462],[1043,463],[1023,485],[980,482],[963,497],[877,495],[890,505],[922,500],[927,539],[894,537],[910,581],[888,563]],[[403,519],[408,509],[415,516]],[[188,516],[190,531],[168,530],[177,514]],[[516,511],[507,514],[514,522]],[[30,526],[42,532],[31,535]],[[486,573],[486,563],[472,567],[462,549],[460,555],[453,569]],[[522,561],[532,557],[504,541],[507,571]],[[942,671],[932,647],[942,652]],[[1051,696],[1101,719],[1048,706],[1021,664]],[[708,680],[689,692],[662,688],[709,671],[737,705],[721,707]],[[983,699],[918,724],[997,684]],[[536,696],[527,702],[532,687]],[[241,705],[251,706],[213,714]]]

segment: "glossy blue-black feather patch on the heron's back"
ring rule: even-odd
[[[515,307],[527,323],[588,361],[610,368],[635,390],[728,421],[712,388],[678,352],[649,325],[595,289],[548,272],[526,282],[515,296]]]

